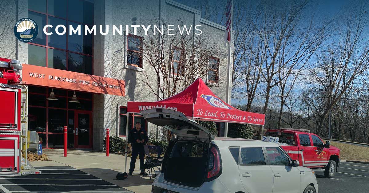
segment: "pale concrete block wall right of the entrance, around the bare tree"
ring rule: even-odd
[[[97,9],[100,11],[99,14],[96,14]],[[228,62],[228,48],[223,46],[225,27],[203,20],[200,15],[201,12],[199,10],[184,6],[172,0],[140,0],[131,1],[130,4],[120,0],[95,1],[96,25],[122,24],[124,31],[126,24],[147,25],[159,17],[162,20],[165,20],[166,23],[173,25],[186,24],[188,26],[193,25],[193,27],[198,24],[202,25],[201,30],[203,30],[206,35],[211,36],[211,39],[222,47],[220,49],[221,53],[219,53],[219,55],[215,55],[215,57],[221,58],[219,75],[220,84],[217,86],[209,86],[212,87],[211,89],[215,94],[218,94],[221,99],[225,100],[226,94],[224,90],[227,86],[226,77]],[[140,35],[139,33],[140,32],[138,31],[138,35]],[[144,37],[144,35],[140,36]],[[99,124],[94,123],[94,135],[105,135],[103,131],[100,131],[101,129],[99,130],[99,128],[96,128],[102,125],[103,128],[110,128],[111,136],[119,136],[120,106],[127,106],[127,101],[158,100],[155,94],[151,92],[151,89],[141,82],[143,78],[146,79],[148,77],[149,80],[152,80],[154,85],[156,83],[156,74],[151,65],[145,60],[143,62],[142,69],[132,69],[126,65],[127,37],[125,35],[112,35],[112,33],[110,33],[109,35],[95,39],[97,39],[97,41],[94,42],[94,50],[98,53],[94,53],[94,63],[96,64],[96,61],[99,61],[100,68],[98,69],[103,71],[94,72],[94,74],[101,74],[106,77],[125,80],[126,96],[121,97],[105,94],[103,97],[94,97],[94,121],[97,121],[95,120],[95,117],[102,118],[102,120],[98,121]],[[102,66],[101,64],[104,65]],[[206,78],[207,77],[204,77],[204,79]],[[99,100],[99,102],[96,100]],[[98,107],[98,104],[103,104],[103,106]],[[96,114],[102,114],[102,116]],[[163,130],[157,130],[158,127],[148,124],[148,134],[150,137],[155,138],[156,135],[158,135],[158,137],[161,136]],[[93,137],[94,149],[102,148],[102,145],[97,144],[102,144],[103,136]],[[101,140],[101,143],[96,140]]]

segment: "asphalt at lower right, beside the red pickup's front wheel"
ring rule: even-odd
[[[368,193],[369,165],[341,162],[334,178],[325,178],[323,172],[316,172],[320,193]]]

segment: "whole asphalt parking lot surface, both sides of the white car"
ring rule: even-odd
[[[37,168],[40,175],[0,178],[1,193],[132,193],[68,166]],[[369,165],[342,162],[334,178],[316,172],[320,193],[368,193]]]

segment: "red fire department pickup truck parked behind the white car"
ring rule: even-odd
[[[284,151],[301,166],[316,171],[324,171],[324,176],[332,178],[340,163],[339,149],[324,143],[321,138],[310,130],[287,129],[267,130],[266,137],[278,137]]]

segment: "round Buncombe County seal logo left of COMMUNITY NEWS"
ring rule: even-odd
[[[38,25],[31,18],[21,18],[14,25],[15,37],[24,43],[28,43],[36,39],[38,34]]]

